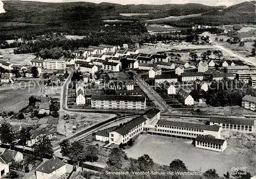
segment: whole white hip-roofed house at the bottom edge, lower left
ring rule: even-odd
[[[66,163],[62,162],[57,157],[46,161],[36,169],[36,179],[49,179],[55,176],[60,178],[61,175],[67,172]]]

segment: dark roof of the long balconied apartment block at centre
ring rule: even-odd
[[[125,101],[145,101],[145,96],[122,96],[122,95],[98,95],[93,94],[92,100],[125,100]]]

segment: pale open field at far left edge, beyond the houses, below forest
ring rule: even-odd
[[[3,60],[17,65],[29,64],[30,60],[35,58],[33,54],[9,54],[12,52],[12,49],[9,48],[1,51],[3,52]]]

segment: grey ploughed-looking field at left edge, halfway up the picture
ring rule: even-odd
[[[0,112],[14,111],[18,112],[29,104],[30,96],[39,96],[41,91],[38,85],[31,87],[10,87],[9,89],[0,90]]]

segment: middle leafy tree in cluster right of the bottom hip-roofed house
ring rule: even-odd
[[[68,157],[72,162],[77,163],[78,166],[79,162],[86,162],[86,152],[84,151],[83,144],[78,141],[72,142]]]

